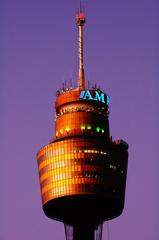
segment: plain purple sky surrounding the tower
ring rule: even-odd
[[[41,209],[36,152],[53,136],[56,90],[77,77],[78,2],[0,3],[1,240],[64,240]],[[86,79],[110,95],[111,135],[129,143],[125,210],[110,239],[158,240],[159,2],[84,2]]]

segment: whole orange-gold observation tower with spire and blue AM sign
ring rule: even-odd
[[[124,208],[128,144],[109,133],[109,96],[86,88],[83,64],[85,14],[78,26],[76,88],[58,91],[55,136],[37,153],[43,210],[65,224],[66,240],[102,237],[104,221]]]

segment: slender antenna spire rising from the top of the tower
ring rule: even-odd
[[[78,87],[80,89],[85,88],[85,76],[84,76],[84,64],[83,64],[83,26],[86,18],[82,11],[82,2],[80,1],[80,11],[76,17],[76,23],[78,26],[78,56],[79,56],[79,69],[78,69]]]

